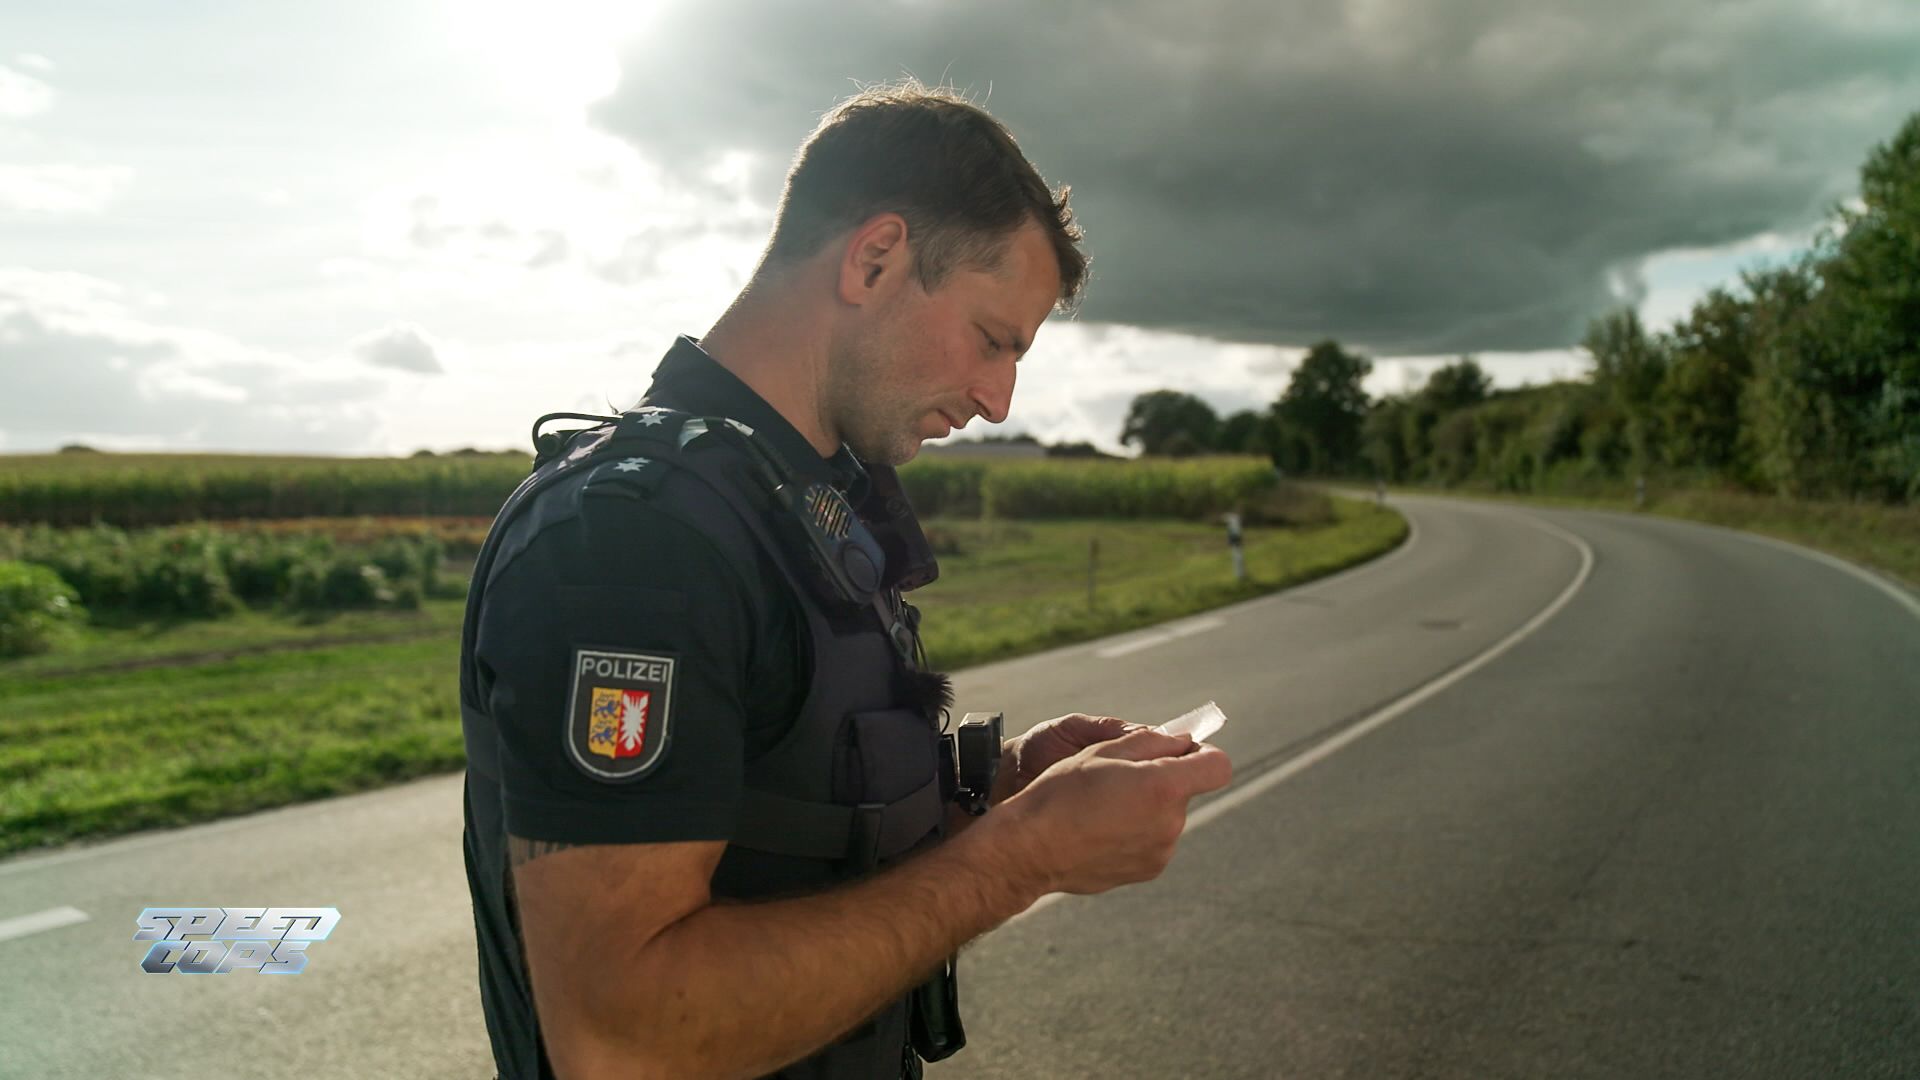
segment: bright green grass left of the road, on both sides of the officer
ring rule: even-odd
[[[1323,527],[1250,528],[1244,584],[1217,525],[941,521],[937,530],[960,552],[941,557],[941,580],[914,601],[931,657],[958,669],[1327,575],[1396,546],[1405,523],[1338,500]],[[1091,538],[1100,542],[1092,605]],[[0,663],[0,853],[459,769],[459,615],[449,600],[411,613],[123,623]]]

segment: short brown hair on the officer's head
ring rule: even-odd
[[[906,219],[914,273],[927,290],[954,269],[1000,269],[1027,219],[1060,261],[1060,307],[1087,282],[1085,233],[1000,121],[948,88],[916,79],[868,86],[833,106],[787,169],[766,263],[797,263],[876,213]]]

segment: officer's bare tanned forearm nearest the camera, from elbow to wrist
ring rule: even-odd
[[[806,1057],[1023,911],[993,830],[831,892],[720,903],[674,922],[637,970],[607,970],[605,1061],[662,1074],[760,1076]]]

